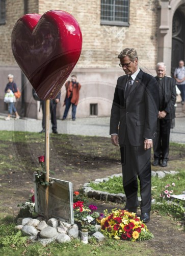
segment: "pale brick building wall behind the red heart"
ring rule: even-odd
[[[7,0],[6,3],[6,24],[0,26],[0,101],[4,97],[8,73],[14,72],[15,81],[21,84],[21,72],[11,50],[11,32],[16,20],[24,14],[24,1]],[[29,13],[43,14],[48,10],[64,10],[71,13],[80,24],[83,35],[83,49],[73,72],[78,75],[79,81],[83,84],[80,96],[82,108],[80,105],[78,106],[78,116],[89,115],[90,98],[92,103],[101,101],[98,115],[109,115],[113,97],[109,85],[111,84],[111,88],[114,88],[117,76],[123,74],[122,69],[118,67],[119,60],[117,59],[117,55],[122,49],[126,47],[136,48],[139,56],[139,66],[146,72],[155,74],[157,6],[158,0],[131,0],[130,25],[129,27],[118,27],[100,25],[99,0],[28,1]],[[106,99],[100,99],[106,90],[104,84],[107,84],[106,88],[108,92],[110,91],[110,94],[105,96]],[[96,95],[93,97],[90,95],[92,88],[96,91]],[[31,112],[34,112],[32,110],[33,105],[34,109],[37,108],[36,102],[32,99],[31,89],[30,84],[25,86],[27,113],[29,116],[34,117],[35,115],[35,117],[38,117],[36,112],[34,115],[31,114]],[[64,95],[65,90],[62,94],[62,101]],[[106,104],[109,104],[109,107]],[[2,112],[2,105],[0,103],[0,112]],[[62,108],[61,102],[58,106],[58,117],[62,117],[63,111],[64,108]]]

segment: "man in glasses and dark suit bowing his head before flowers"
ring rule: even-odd
[[[119,66],[126,75],[118,78],[111,110],[112,143],[120,146],[125,209],[137,212],[138,181],[141,191],[141,220],[150,220],[151,147],[155,137],[159,107],[156,79],[138,68],[134,48],[119,55]]]

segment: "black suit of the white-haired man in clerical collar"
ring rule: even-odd
[[[156,143],[154,144],[154,159],[168,159],[170,144],[170,127],[175,118],[176,82],[174,78],[164,76],[162,80],[155,77],[160,89],[160,111],[166,111],[163,119],[158,119]]]

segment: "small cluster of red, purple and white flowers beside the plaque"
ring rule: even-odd
[[[96,219],[99,217],[99,213],[96,210],[97,207],[95,205],[91,204],[87,207],[84,206],[83,201],[77,201],[73,203],[74,221],[76,224],[80,224],[82,228],[94,231]]]

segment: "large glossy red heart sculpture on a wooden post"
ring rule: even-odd
[[[81,29],[68,12],[26,14],[14,25],[12,51],[39,98],[54,99],[81,55]]]

